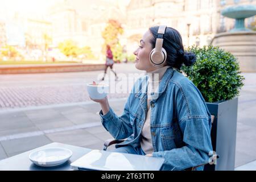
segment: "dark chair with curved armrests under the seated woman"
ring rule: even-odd
[[[210,115],[211,117],[212,117],[212,126],[213,126],[213,123],[214,123],[214,115]],[[213,127],[212,127],[213,128]],[[215,130],[213,131],[213,130],[211,130],[211,135],[212,135],[212,133],[213,132],[216,132]],[[103,150],[107,150],[107,148],[109,147],[109,146],[111,146],[112,144],[118,144],[118,143],[122,143],[122,142],[124,142],[126,139],[120,139],[120,140],[116,140],[116,139],[108,139],[108,140],[106,140],[105,142],[104,142],[104,148],[103,148]],[[211,162],[212,163],[214,163],[214,161],[215,160],[217,160],[218,158],[220,158],[220,156],[218,156],[217,154],[213,154],[212,155],[212,160],[211,160]],[[206,166],[205,168],[204,168],[204,170],[205,171],[210,171],[210,170],[213,170],[214,171],[214,168],[211,168],[211,167],[209,167],[209,163],[205,163],[205,164],[200,164],[199,166],[195,166],[195,167],[190,167],[190,168],[187,168],[187,169],[185,169],[185,171],[195,171],[195,169],[196,168],[198,168],[198,167],[200,167],[200,166]]]

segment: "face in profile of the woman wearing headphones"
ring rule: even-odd
[[[152,51],[152,46],[150,39],[153,38],[150,30],[148,30],[142,37],[139,47],[133,52],[136,55],[135,67],[139,70],[144,70],[146,72],[154,71],[156,68],[150,64],[150,52]]]

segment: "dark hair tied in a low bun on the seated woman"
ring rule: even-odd
[[[150,42],[152,48],[155,48],[156,38],[158,37],[158,28],[159,26],[151,27],[149,29],[154,36]],[[182,64],[191,66],[196,62],[196,55],[194,53],[184,51],[182,38],[177,30],[167,27],[163,39],[163,48],[166,49],[167,52],[167,65],[180,69]]]

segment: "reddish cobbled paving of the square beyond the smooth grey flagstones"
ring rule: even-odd
[[[126,76],[130,73],[141,73],[133,63],[114,64],[114,69],[120,77],[117,84],[125,82]],[[0,110],[89,101],[86,84],[102,78],[103,72],[0,75]],[[107,76],[114,78],[114,74],[109,72],[110,69]],[[107,76],[104,81],[106,83],[108,83]],[[109,94],[109,98],[128,95],[126,93]]]

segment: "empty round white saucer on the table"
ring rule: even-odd
[[[72,151],[67,148],[46,148],[32,152],[29,155],[30,160],[42,167],[58,166],[67,162],[72,156]]]

